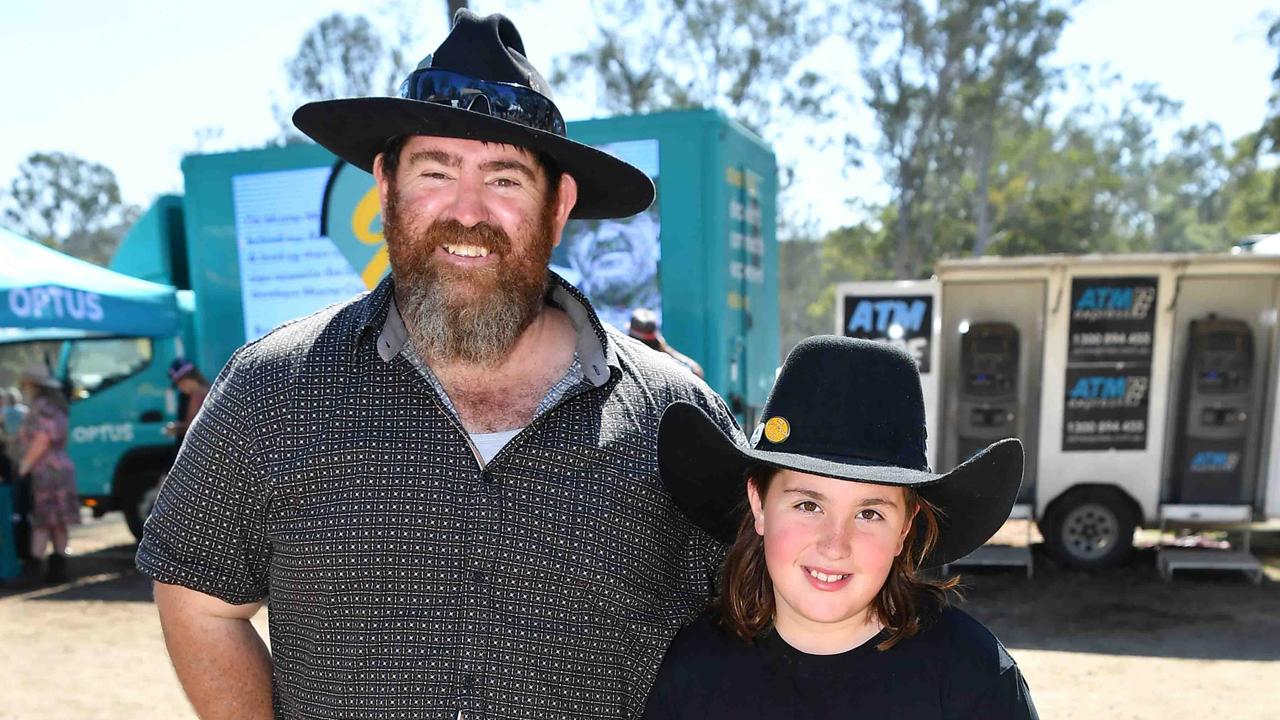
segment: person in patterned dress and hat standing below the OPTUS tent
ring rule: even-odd
[[[28,398],[27,416],[18,430],[18,477],[24,478],[31,523],[28,575],[44,565],[45,548],[52,555],[45,566],[45,582],[67,579],[68,527],[79,524],[76,468],[67,455],[67,396],[41,364],[22,373],[22,393]]]

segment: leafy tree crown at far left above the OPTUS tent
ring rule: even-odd
[[[67,152],[35,152],[9,184],[4,219],[15,232],[105,265],[138,208],[120,199],[105,165]]]

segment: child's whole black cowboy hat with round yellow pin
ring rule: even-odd
[[[731,542],[758,466],[915,489],[941,512],[924,568],[964,557],[1009,518],[1023,482],[1023,445],[998,441],[950,473],[929,471],[915,361],[896,347],[818,336],[796,345],[742,447],[698,406],[676,402],[658,429],[658,468],[676,506]]]

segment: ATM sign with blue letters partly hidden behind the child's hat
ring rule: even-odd
[[[915,357],[922,375],[929,373],[933,296],[846,295],[844,313],[846,337],[896,345]]]

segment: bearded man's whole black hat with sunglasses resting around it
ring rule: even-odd
[[[573,218],[626,218],[653,204],[649,176],[566,137],[547,81],[503,15],[458,10],[453,29],[401,86],[401,97],[307,102],[293,124],[334,155],[372,172],[388,140],[433,135],[525,147],[550,156],[577,181]]]

